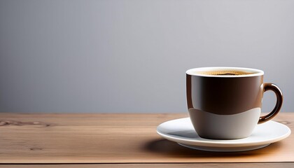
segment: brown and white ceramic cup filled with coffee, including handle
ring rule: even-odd
[[[206,139],[249,137],[257,124],[279,113],[283,95],[273,83],[263,83],[264,72],[238,67],[204,67],[186,71],[187,104],[197,134]],[[262,96],[276,94],[271,113],[260,116]]]

